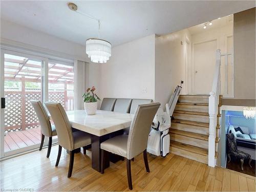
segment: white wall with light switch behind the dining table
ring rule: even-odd
[[[112,49],[110,60],[100,65],[100,96],[155,98],[155,34]]]

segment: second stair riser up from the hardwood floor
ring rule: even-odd
[[[185,144],[208,149],[208,141],[205,141],[205,140],[196,139],[196,138],[192,138],[192,137],[186,137],[183,135],[176,135],[176,134],[170,134],[170,139],[173,141],[180,142],[180,143],[185,143]]]

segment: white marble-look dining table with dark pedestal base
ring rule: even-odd
[[[84,110],[67,111],[67,115],[73,128],[90,134],[92,143],[92,168],[98,172],[100,172],[101,168],[100,143],[110,137],[122,134],[122,130],[131,125],[134,117],[134,114],[102,110],[97,110],[95,115],[87,115]],[[104,167],[109,166],[108,158],[106,158],[104,164]]]

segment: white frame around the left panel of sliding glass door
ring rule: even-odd
[[[27,57],[31,58],[34,60],[40,60],[42,61],[42,65],[44,65],[44,68],[42,68],[42,80],[41,80],[41,89],[42,89],[42,101],[46,101],[48,99],[48,58],[47,57],[40,57],[28,53],[24,53],[22,51],[13,51],[12,48],[8,49],[6,46],[4,48],[1,48],[1,62],[0,62],[0,96],[4,97],[5,96],[5,90],[4,90],[4,69],[5,69],[5,54],[12,54],[12,55],[17,55],[17,56],[22,56],[22,57]],[[31,145],[28,147],[23,147],[23,148],[18,148],[17,150],[9,151],[9,152],[4,152],[4,126],[5,126],[5,119],[4,119],[4,109],[0,110],[0,118],[1,118],[1,124],[0,124],[0,158],[8,157],[8,156],[13,156],[13,155],[18,155],[20,153],[25,153],[30,150],[34,150],[35,148],[38,148],[40,146],[39,144]],[[44,146],[48,143],[48,138],[45,138]]]

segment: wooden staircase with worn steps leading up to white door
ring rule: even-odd
[[[180,95],[170,128],[171,153],[208,164],[209,95]],[[220,99],[221,101],[221,99]],[[217,115],[216,145],[220,129]],[[218,147],[216,147],[217,149]],[[218,152],[215,153],[217,158]]]

